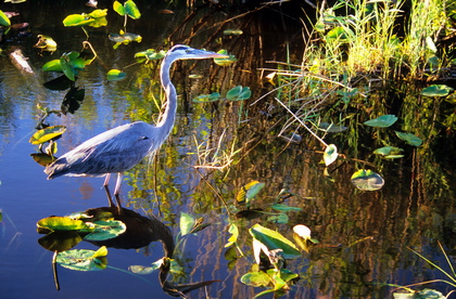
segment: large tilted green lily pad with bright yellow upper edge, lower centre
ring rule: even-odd
[[[249,233],[258,242],[264,244],[268,250],[282,249],[286,259],[294,259],[301,257],[300,250],[296,246],[282,236],[280,233],[255,224],[249,230]]]

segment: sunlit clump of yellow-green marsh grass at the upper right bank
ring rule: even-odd
[[[317,21],[304,26],[309,38],[302,63],[263,69],[276,74],[276,103],[290,115],[279,135],[304,122],[311,134],[325,135],[321,122],[346,126],[356,113],[369,114],[367,106],[384,109],[369,102],[373,90],[439,78],[451,65],[436,47],[452,32],[449,13],[445,0],[324,1]]]

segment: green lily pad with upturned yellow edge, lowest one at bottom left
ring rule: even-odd
[[[74,249],[59,252],[56,262],[71,270],[76,271],[99,271],[107,266],[107,249],[100,247],[97,251],[88,249]]]

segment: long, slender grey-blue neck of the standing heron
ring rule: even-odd
[[[163,138],[166,139],[174,126],[174,121],[176,118],[176,109],[177,109],[177,93],[176,88],[173,86],[169,79],[169,68],[173,64],[172,62],[165,61],[162,63],[162,67],[160,69],[160,78],[162,80],[162,87],[165,90],[166,95],[166,107],[165,112],[163,113],[162,119],[156,125],[156,127],[163,128]]]

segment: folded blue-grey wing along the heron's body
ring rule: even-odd
[[[119,126],[84,142],[45,172],[49,178],[123,172],[153,151],[155,131],[155,127],[142,121]]]

